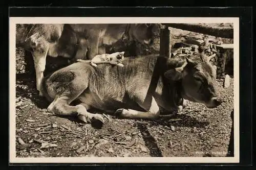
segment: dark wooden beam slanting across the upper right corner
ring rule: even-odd
[[[216,37],[233,38],[233,28],[231,27],[210,27],[198,23],[162,23],[162,25]]]

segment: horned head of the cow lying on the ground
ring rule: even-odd
[[[209,60],[213,56],[192,55],[186,57],[181,67],[167,70],[164,76],[171,81],[181,81],[184,99],[205,104],[209,108],[221,104],[216,85],[216,68]]]

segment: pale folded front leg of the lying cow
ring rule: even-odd
[[[137,103],[143,109],[147,110],[148,108],[141,102],[141,100],[137,101]],[[160,114],[159,106],[157,105],[155,99],[152,97],[150,108],[146,112],[132,110],[132,109],[118,109],[115,114],[120,115],[124,118],[144,118],[144,119],[155,119]]]

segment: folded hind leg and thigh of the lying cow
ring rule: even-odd
[[[87,89],[87,74],[81,76],[78,72],[62,70],[51,75],[47,82],[50,93],[55,94],[55,99],[47,109],[49,112],[63,116],[75,115],[86,123],[92,123],[94,120],[103,123],[103,117],[100,114],[87,111],[90,106],[83,103],[70,106],[70,103]]]

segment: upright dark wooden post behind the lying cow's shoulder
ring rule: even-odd
[[[170,43],[170,30],[168,27],[163,26],[160,31],[160,56],[170,58],[170,50],[172,44]]]

